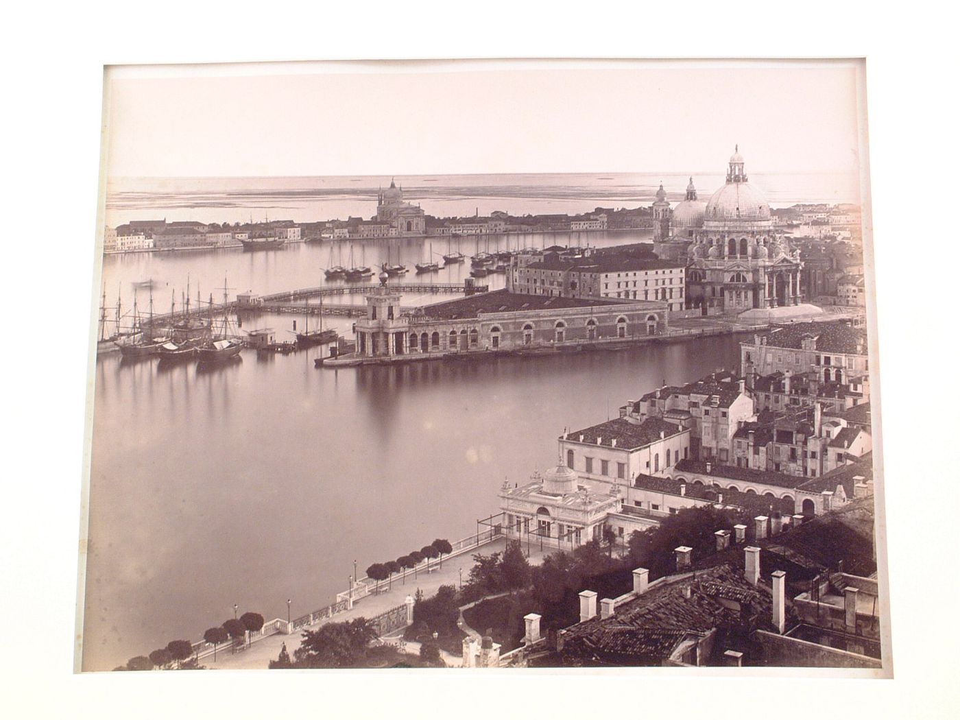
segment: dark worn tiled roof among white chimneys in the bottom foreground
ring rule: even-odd
[[[684,594],[689,588],[689,597]],[[749,606],[763,627],[769,625],[772,596],[755,588],[732,564],[719,564],[695,576],[676,579],[620,605],[611,617],[567,628],[563,654],[592,661],[624,657],[659,662],[668,658],[687,634],[703,636],[719,627],[739,627],[740,612],[722,600]]]

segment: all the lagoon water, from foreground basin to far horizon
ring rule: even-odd
[[[520,204],[530,212],[554,211],[545,209],[547,203],[559,212],[612,204],[610,188],[585,191],[576,177],[549,178],[561,180],[514,181],[497,190],[489,179],[457,177],[456,186],[447,181],[430,190],[443,209],[428,203],[426,191],[422,204],[433,214],[465,213],[468,205],[483,213],[516,211]],[[324,180],[329,187],[348,183]],[[623,185],[616,191],[623,204],[640,204],[636,197],[649,187],[631,188],[620,180],[611,182]],[[685,178],[674,185],[681,180],[685,185]],[[139,199],[127,191],[111,195],[110,224],[134,217],[234,222],[262,215],[264,205],[271,217],[298,221],[335,217],[337,208],[341,217],[372,213],[366,191],[340,193],[332,201],[323,193],[298,200],[290,182],[278,187],[264,180],[250,189],[245,180],[214,192],[218,184],[204,180],[202,199],[194,191],[184,197],[176,188],[158,193],[153,182],[153,189],[141,187]],[[803,191],[790,202],[817,195],[797,182]],[[375,184],[355,184],[375,193]],[[710,184],[704,184],[707,190]],[[246,199],[237,197],[243,187]],[[354,202],[357,209],[345,209]],[[490,249],[646,239],[649,232],[532,234],[492,239]],[[349,244],[337,248],[334,262],[338,252],[347,261]],[[387,259],[388,248],[392,261],[398,254],[412,266],[430,252],[430,241],[369,241],[354,245],[353,252],[357,262],[362,255],[374,266]],[[462,241],[462,252],[476,249],[486,250],[486,241],[479,247]],[[433,252],[446,252],[445,241],[434,241]],[[328,243],[270,252],[113,255],[104,259],[103,280],[108,305],[119,295],[129,309],[136,292],[141,311],[148,297],[142,283],[151,280],[156,311],[163,312],[171,297],[180,305],[187,276],[192,298],[199,286],[204,301],[211,294],[219,300],[216,288],[225,277],[231,296],[323,284],[329,257]],[[468,272],[465,264],[430,277],[460,283]],[[411,272],[405,279],[430,277]],[[492,288],[502,286],[502,276],[488,279]],[[448,298],[407,296],[403,302]],[[246,320],[244,329],[272,326],[285,339],[295,319],[261,316]],[[351,323],[324,322],[342,333]],[[564,427],[616,417],[620,405],[663,382],[732,369],[738,358],[731,337],[619,352],[339,371],[315,369],[319,352],[260,357],[245,350],[238,362],[210,370],[195,363],[161,368],[155,359],[128,363],[118,354],[97,360],[84,670],[108,670],[172,639],[199,639],[232,616],[234,603],[240,612],[267,618],[285,616],[287,598],[294,616],[316,610],[347,587],[354,560],[362,575],[369,564],[396,559],[435,538],[457,540],[474,532],[478,517],[496,512],[496,492],[505,479],[523,483],[556,462]]]

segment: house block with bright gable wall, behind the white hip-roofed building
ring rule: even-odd
[[[754,399],[732,372],[712,372],[683,386],[664,385],[620,408],[620,417],[661,418],[690,429],[692,457],[729,462],[740,425],[754,417]]]

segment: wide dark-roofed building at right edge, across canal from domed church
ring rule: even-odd
[[[773,372],[816,372],[844,383],[870,370],[867,333],[848,322],[780,325],[740,343],[740,368],[748,378]]]

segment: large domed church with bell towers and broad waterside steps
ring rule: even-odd
[[[669,236],[659,244],[656,214],[658,253],[672,252],[683,259],[685,248],[687,308],[700,308],[703,315],[762,311],[750,316],[757,320],[822,312],[801,302],[800,252],[774,229],[770,204],[750,184],[738,147],[728,164],[727,181],[706,204],[697,200],[690,179],[686,199],[671,213]],[[786,309],[791,307],[795,309]],[[773,312],[775,308],[783,309]]]

